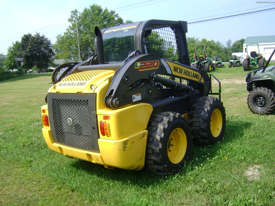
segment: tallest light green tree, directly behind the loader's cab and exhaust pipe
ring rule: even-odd
[[[94,54],[96,26],[103,29],[123,24],[122,18],[115,14],[115,11],[109,11],[107,8],[103,10],[96,4],[85,8],[82,13],[72,11],[68,21],[71,25],[63,35],[57,36],[57,42],[53,46],[57,59],[78,60],[78,41],[80,59],[87,59]]]

